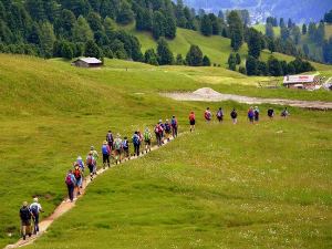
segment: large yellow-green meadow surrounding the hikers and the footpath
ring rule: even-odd
[[[100,151],[107,129],[131,137],[175,114],[185,134],[98,176],[30,247],[331,247],[331,111],[289,107],[291,116],[282,120],[283,106],[276,105],[271,121],[266,104],[259,124],[249,125],[248,105],[178,102],[158,92],[208,86],[324,101],[331,93],[258,89],[246,83],[256,77],[217,68],[106,60],[101,70],[85,70],[63,60],[0,56],[0,246],[19,239],[23,200],[39,196],[41,217],[52,214],[66,195],[68,169],[91,145]],[[207,106],[214,113],[222,107],[222,125],[204,122]],[[232,107],[239,112],[236,126]],[[188,132],[191,110],[195,133]]]

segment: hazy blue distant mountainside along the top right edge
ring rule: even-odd
[[[206,12],[218,13],[226,9],[248,9],[251,22],[264,22],[267,17],[290,18],[292,22],[319,22],[332,9],[331,0],[184,0],[184,4]]]

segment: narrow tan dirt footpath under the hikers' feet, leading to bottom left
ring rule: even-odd
[[[183,135],[185,133],[179,133],[178,136]],[[173,137],[169,137],[169,142],[173,141],[174,138]],[[165,144],[169,143],[165,139]],[[158,149],[159,147],[156,145],[154,147],[152,147],[151,151],[155,151],[155,149]],[[145,156],[146,153],[142,154],[141,156],[132,156],[131,157],[131,160],[132,159],[137,159],[137,158],[141,158],[142,156]],[[125,160],[127,162],[127,160]],[[121,163],[121,164],[124,164],[125,162]],[[121,164],[113,164],[111,165],[111,168],[115,167],[115,166],[118,166]],[[100,175],[100,174],[103,174],[105,170],[107,169],[111,169],[108,167],[105,167],[105,169],[101,168],[100,170],[97,170],[97,175],[94,176],[95,178]],[[81,196],[82,197],[84,195],[84,190],[85,188],[89,186],[89,184],[91,183],[90,180],[90,177],[86,177],[86,179],[83,181],[83,188],[81,189]],[[79,198],[80,198],[79,197]],[[43,219],[40,224],[39,224],[39,234],[35,236],[35,235],[32,235],[31,237],[27,237],[27,240],[23,240],[22,238],[13,243],[13,245],[8,245],[7,247],[4,247],[4,249],[9,249],[9,248],[19,248],[19,247],[24,247],[24,246],[28,246],[28,245],[31,245],[35,239],[38,239],[40,236],[42,236],[44,232],[46,232],[48,228],[50,227],[50,225],[60,216],[62,216],[63,214],[65,214],[66,211],[69,211],[70,209],[72,209],[73,207],[75,207],[75,203],[76,203],[77,198],[74,198],[74,201],[71,203],[70,199],[65,199],[63,200],[60,206],[54,210],[54,212]],[[33,224],[33,222],[32,222]]]

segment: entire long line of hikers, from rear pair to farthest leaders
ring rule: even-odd
[[[282,117],[288,117],[290,114],[288,113],[287,107],[281,113]],[[210,112],[210,108],[207,107],[207,110],[204,113],[204,117],[207,123],[211,122],[212,113]],[[249,122],[253,124],[253,122],[258,122],[260,116],[260,112],[258,110],[258,106],[255,108],[251,106],[248,111],[248,118]],[[272,118],[274,116],[274,111],[270,106],[268,110],[268,116]],[[219,123],[222,123],[224,121],[224,111],[221,107],[216,113],[216,117]],[[230,117],[232,120],[232,124],[237,124],[237,117],[238,113],[236,112],[236,108],[234,108],[230,112]],[[195,131],[195,112],[191,111],[189,114],[189,124],[190,124],[190,132]],[[173,115],[173,118],[170,122],[168,120],[163,123],[163,120],[159,120],[159,122],[156,123],[156,126],[154,127],[155,137],[156,137],[156,145],[160,147],[165,139],[168,142],[170,138],[170,134],[173,138],[178,136],[178,122]],[[141,131],[136,131],[134,135],[132,136],[132,143],[134,145],[134,156],[139,156],[139,154],[144,154],[147,152],[151,152],[152,149],[152,141],[153,135],[149,128],[145,129],[145,133],[141,133]],[[124,160],[131,159],[131,152],[129,152],[131,143],[128,141],[128,137],[125,136],[123,139],[121,139],[121,134],[117,133],[115,138],[110,129],[105,136],[105,141],[103,142],[103,145],[101,147],[101,154],[103,155],[103,169],[105,169],[106,164],[108,168],[111,167],[111,160],[115,160],[115,164],[122,163]],[[68,194],[69,199],[71,201],[74,200],[74,191],[76,191],[76,197],[81,195],[81,188],[83,178],[84,178],[84,169],[85,165],[87,166],[90,170],[90,179],[92,180],[94,175],[97,174],[97,159],[98,159],[98,153],[95,149],[94,146],[91,146],[89,155],[85,158],[85,164],[81,156],[77,157],[76,162],[73,164],[73,168],[69,170],[69,174],[65,176],[65,184],[68,187]],[[29,237],[31,237],[31,218],[33,218],[34,221],[34,235],[38,235],[39,231],[39,214],[42,212],[42,207],[38,203],[38,198],[33,199],[33,203],[28,207],[28,203],[23,203],[23,207],[20,209],[20,218],[22,224],[22,232],[23,232],[23,239],[25,240],[27,234],[25,234],[25,227],[29,229]]]

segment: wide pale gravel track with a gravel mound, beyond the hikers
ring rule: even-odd
[[[234,100],[239,103],[245,104],[278,104],[278,105],[290,105],[294,107],[302,107],[309,110],[332,110],[332,102],[320,102],[320,101],[290,101],[290,100],[279,100],[279,98],[259,98],[259,97],[248,97],[234,94],[221,94],[212,89],[204,87],[199,89],[193,93],[162,93],[164,96],[172,97],[177,101],[206,101],[206,102],[218,102]]]

